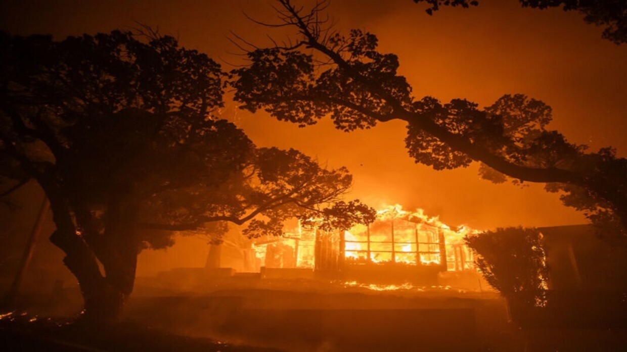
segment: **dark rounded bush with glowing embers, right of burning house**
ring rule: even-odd
[[[512,303],[541,306],[549,279],[540,232],[507,227],[466,236],[477,256],[477,267],[490,286]]]

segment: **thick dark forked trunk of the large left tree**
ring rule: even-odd
[[[23,166],[34,170],[24,163]],[[56,225],[50,242],[65,252],[63,263],[78,280],[85,301],[82,320],[101,326],[119,321],[135,282],[139,242],[134,228],[127,225],[134,220],[136,212],[122,211],[122,197],[117,195],[112,199],[115,225],[111,231],[107,229],[101,234],[89,206],[83,204],[80,197],[68,199],[55,175],[34,173],[50,201]],[[129,209],[136,210],[136,207],[124,210]],[[93,246],[92,238],[103,246]],[[100,271],[98,259],[107,276]]]

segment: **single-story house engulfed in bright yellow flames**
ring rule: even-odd
[[[463,236],[472,231],[396,205],[379,210],[372,224],[346,231],[324,231],[299,222],[282,237],[227,239],[211,251],[208,267],[234,267],[266,278],[433,285],[445,272],[474,272],[472,252],[463,243]],[[233,259],[238,256],[239,262]]]

